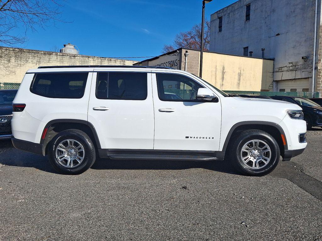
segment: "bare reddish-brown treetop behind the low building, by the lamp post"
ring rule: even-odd
[[[204,50],[210,47],[210,21],[205,21],[204,27]],[[201,48],[201,23],[196,24],[191,30],[180,32],[175,36],[172,45],[164,45],[162,53],[167,53],[179,48],[196,49]],[[170,51],[168,51],[170,50]]]

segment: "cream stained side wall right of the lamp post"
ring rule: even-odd
[[[222,90],[269,90],[273,61],[216,53],[204,53],[204,80]]]

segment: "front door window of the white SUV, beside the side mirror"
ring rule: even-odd
[[[160,100],[204,102],[197,99],[198,89],[204,87],[186,76],[156,74],[156,82]]]

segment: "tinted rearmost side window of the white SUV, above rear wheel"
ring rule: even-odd
[[[83,97],[88,73],[46,73],[34,76],[31,92],[50,98]]]

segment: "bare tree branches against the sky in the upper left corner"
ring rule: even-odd
[[[36,31],[55,22],[64,22],[60,9],[64,0],[0,0],[0,45],[13,46],[26,41],[27,30]],[[15,34],[14,29],[24,29]]]

